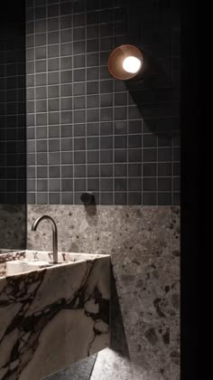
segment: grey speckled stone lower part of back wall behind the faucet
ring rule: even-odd
[[[112,347],[89,358],[93,368],[86,360],[74,373],[81,378],[88,366],[83,379],[180,379],[180,208],[28,205],[28,249],[51,249],[46,222],[31,232],[42,214],[55,219],[60,250],[112,257]],[[73,366],[63,378],[72,374]]]

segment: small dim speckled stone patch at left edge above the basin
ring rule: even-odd
[[[1,250],[26,248],[26,205],[0,204]]]

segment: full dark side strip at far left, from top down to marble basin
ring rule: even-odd
[[[0,250],[26,246],[24,5],[0,14]]]

